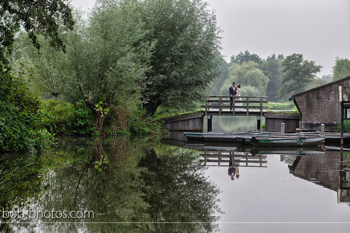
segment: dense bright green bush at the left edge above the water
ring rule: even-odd
[[[53,145],[49,115],[21,76],[0,75],[0,151],[38,151]]]

